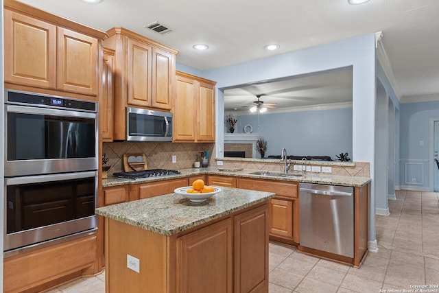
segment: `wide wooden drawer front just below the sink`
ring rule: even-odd
[[[276,198],[279,196],[285,198],[297,198],[298,195],[298,183],[296,182],[290,183],[275,180],[239,178],[237,187],[243,189],[274,192],[276,193]]]

